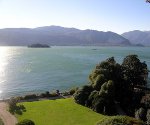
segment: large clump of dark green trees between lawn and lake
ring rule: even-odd
[[[92,89],[78,89],[74,99],[81,105],[107,115],[115,111],[116,101],[128,115],[134,115],[143,96],[138,87],[145,87],[147,78],[147,65],[137,55],[126,56],[122,64],[116,63],[111,57],[99,63],[89,75]]]

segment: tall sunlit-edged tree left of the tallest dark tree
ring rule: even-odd
[[[105,82],[112,80],[116,88],[116,99],[122,98],[122,88],[125,86],[122,80],[122,68],[120,64],[116,63],[114,57],[99,63],[95,70],[89,75],[89,80],[93,88],[97,91],[100,91],[101,86]]]

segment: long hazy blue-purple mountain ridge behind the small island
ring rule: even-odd
[[[38,28],[0,29],[0,45],[27,46],[31,44],[53,45],[103,45],[129,46],[130,41],[114,32],[79,30],[60,26]]]

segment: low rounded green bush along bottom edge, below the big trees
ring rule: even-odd
[[[113,116],[105,118],[97,125],[145,125],[144,122],[128,116]]]

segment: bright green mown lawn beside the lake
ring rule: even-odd
[[[19,121],[31,119],[36,125],[95,125],[105,116],[78,105],[72,98],[25,102]]]

